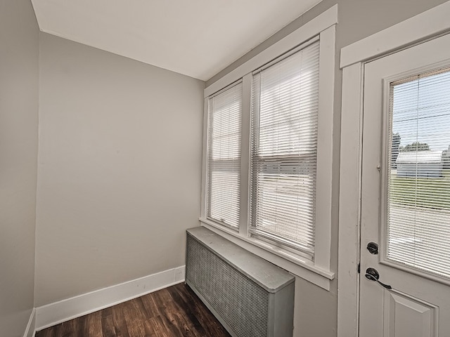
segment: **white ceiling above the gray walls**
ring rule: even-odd
[[[207,80],[321,0],[32,0],[42,32]]]

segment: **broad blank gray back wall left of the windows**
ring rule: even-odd
[[[39,70],[35,304],[184,265],[205,83],[45,33]]]

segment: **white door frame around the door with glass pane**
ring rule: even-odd
[[[340,51],[338,337],[359,336],[361,154],[364,64],[450,32],[450,1],[366,37]],[[345,188],[344,188],[345,187]]]

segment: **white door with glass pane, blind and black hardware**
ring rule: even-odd
[[[450,35],[365,65],[362,156],[359,336],[450,337]]]

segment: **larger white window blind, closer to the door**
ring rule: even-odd
[[[252,79],[250,233],[314,259],[319,41]]]

